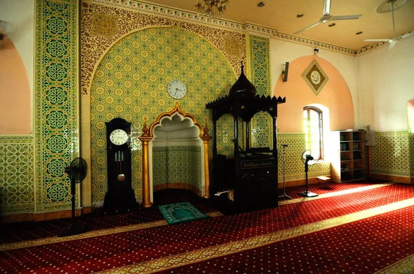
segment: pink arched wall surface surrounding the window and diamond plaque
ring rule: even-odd
[[[316,96],[308,87],[302,73],[316,59],[329,80]],[[353,129],[354,113],[351,93],[339,71],[328,61],[313,54],[302,56],[289,63],[288,81],[283,74],[277,79],[274,95],[286,96],[286,103],[277,109],[277,127],[280,132],[301,132],[304,130],[303,107],[309,104],[321,104],[330,112],[331,131]]]

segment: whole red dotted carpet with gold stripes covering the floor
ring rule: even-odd
[[[104,216],[95,230],[69,238],[42,237],[32,229],[28,240],[8,241],[1,233],[0,272],[375,273],[386,268],[393,273],[406,267],[414,273],[414,187],[370,182],[311,187],[317,198],[295,198],[303,191],[295,187],[286,189],[294,199],[275,209],[231,216],[186,197],[216,217],[171,226],[160,213],[154,220],[157,214],[150,209],[150,222],[124,216],[136,223],[108,227],[121,218]],[[166,196],[177,199],[168,191]]]

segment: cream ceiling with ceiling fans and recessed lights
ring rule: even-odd
[[[161,6],[195,12],[196,0],[152,0],[146,1]],[[239,23],[254,23],[278,32],[293,34],[308,25],[316,23],[322,17],[324,0],[267,0],[263,8],[258,8],[259,0],[230,0],[230,7],[224,19]],[[332,28],[329,23],[319,24],[297,36],[339,45],[351,50],[359,50],[375,42],[364,42],[364,39],[388,39],[393,36],[393,18],[391,12],[378,13],[377,7],[385,0],[332,0],[331,14],[353,15],[362,14],[356,20],[336,20]],[[296,14],[304,17],[297,18]],[[403,34],[414,30],[414,0],[395,10],[395,32]],[[363,32],[356,35],[357,32]]]

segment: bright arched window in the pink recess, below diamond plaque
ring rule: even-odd
[[[317,107],[304,107],[304,132],[306,149],[311,150],[315,160],[324,158],[322,110]]]

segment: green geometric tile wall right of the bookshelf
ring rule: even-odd
[[[393,176],[413,176],[413,133],[404,130],[375,131],[370,147],[371,172]]]

